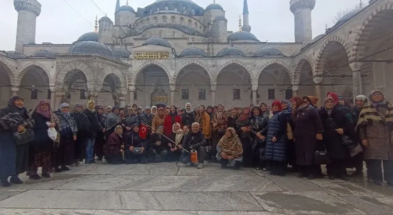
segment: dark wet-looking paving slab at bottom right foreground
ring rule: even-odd
[[[328,192],[252,193],[267,211],[282,214],[366,214],[362,210],[329,195]]]

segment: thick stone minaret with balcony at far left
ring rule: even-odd
[[[14,0],[18,12],[15,51],[23,53],[23,45],[35,42],[37,16],[41,13],[41,4],[37,0]]]

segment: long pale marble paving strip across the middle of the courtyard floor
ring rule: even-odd
[[[239,183],[239,182],[242,183]],[[256,183],[257,182],[257,183]],[[266,177],[250,175],[86,175],[55,189],[129,191],[283,191]]]

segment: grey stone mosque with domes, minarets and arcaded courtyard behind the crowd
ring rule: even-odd
[[[256,20],[249,20],[247,0],[239,29],[230,30],[215,1],[203,8],[191,0],[157,0],[135,10],[117,0],[114,20],[96,19],[95,31],[73,44],[36,44],[41,4],[14,0],[16,45],[15,51],[0,51],[0,106],[20,95],[28,109],[41,99],[56,109],[86,99],[99,105],[230,107],[293,95],[324,98],[330,91],[351,101],[372,89],[392,100],[393,0],[372,0],[366,7],[360,1],[313,37],[315,2],[289,2],[295,42],[259,41],[251,33]]]

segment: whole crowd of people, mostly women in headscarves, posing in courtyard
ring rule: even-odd
[[[200,105],[95,106],[73,110],[63,103],[52,112],[42,100],[32,113],[14,96],[0,112],[1,186],[49,178],[80,162],[104,160],[110,164],[180,161],[204,168],[206,160],[222,168],[233,165],[285,176],[288,164],[299,177],[321,178],[326,164],[329,179],[348,180],[363,175],[370,182],[393,185],[393,109],[381,91],[359,95],[352,107],[328,93],[322,107],[315,96],[294,96],[268,105],[251,104],[226,110]],[[83,110],[84,109],[84,110]],[[72,113],[71,113],[72,112]],[[57,138],[49,137],[55,128]],[[33,131],[34,141],[17,144],[15,137]],[[38,167],[42,167],[39,175]]]

